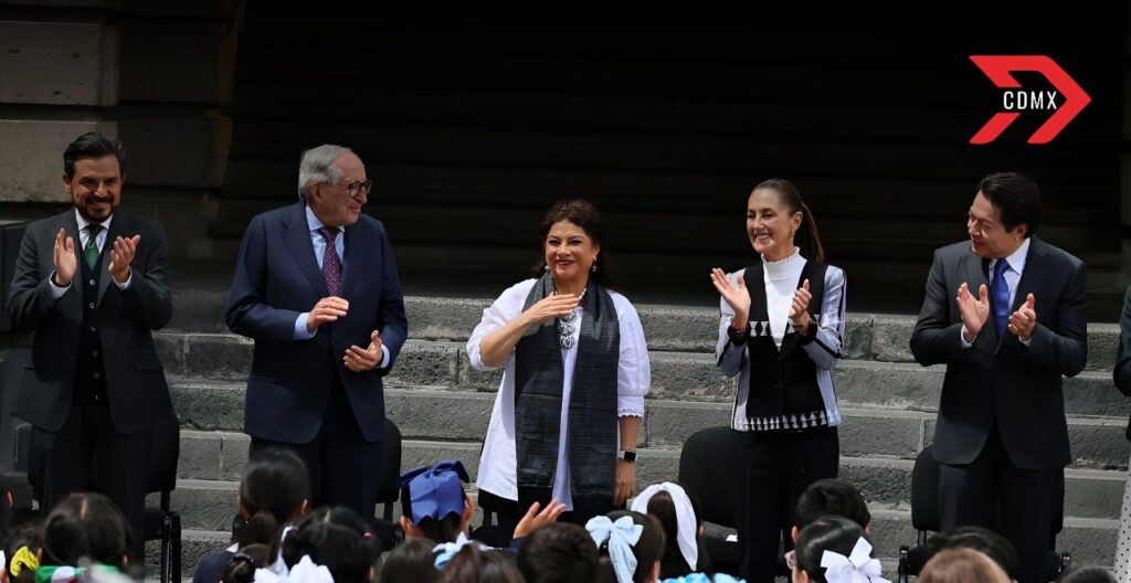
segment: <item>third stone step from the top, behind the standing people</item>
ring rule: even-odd
[[[182,429],[242,436],[243,392],[242,383],[174,383]],[[387,389],[386,415],[407,440],[482,442],[494,399],[493,393],[482,392]],[[724,402],[649,399],[646,407],[640,446],[681,447],[692,433],[727,425],[731,416],[731,404]],[[845,407],[843,415],[840,446],[845,455],[913,460],[933,441],[933,412]],[[1125,469],[1124,425],[1122,418],[1069,418],[1072,465]]]

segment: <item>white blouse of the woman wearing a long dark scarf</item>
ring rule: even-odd
[[[527,296],[537,280],[527,279],[508,288],[491,306],[483,311],[483,319],[467,340],[467,358],[476,371],[492,371],[483,364],[480,356],[480,342],[483,338],[523,313]],[[651,368],[648,364],[648,345],[644,338],[644,327],[628,298],[608,292],[620,322],[621,347],[616,366],[616,416],[644,417],[644,397],[651,386]],[[558,469],[554,472],[553,496],[566,504],[566,510],[573,510],[573,496],[570,493],[569,469],[569,399],[573,383],[573,368],[577,364],[577,339],[581,334],[581,319],[585,310],[578,307],[578,317],[573,322],[573,348],[562,349],[564,374],[562,375],[562,412],[561,434],[558,441]],[[475,481],[481,490],[495,496],[517,501],[518,461],[515,450],[515,355],[511,353],[503,369],[499,393],[491,409],[491,423],[487,426],[486,438],[483,442],[483,454],[480,458],[480,471]]]

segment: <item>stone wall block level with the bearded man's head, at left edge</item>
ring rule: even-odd
[[[0,44],[3,38],[0,27]],[[0,87],[7,78],[8,73],[0,72]],[[0,136],[5,137],[0,143],[0,202],[70,202],[62,184],[63,150],[88,131],[114,136],[118,127],[97,120],[0,120]]]

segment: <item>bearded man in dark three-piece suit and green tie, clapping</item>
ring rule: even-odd
[[[27,227],[8,313],[35,331],[14,414],[49,447],[32,477],[42,506],[96,487],[126,514],[140,559],[153,426],[173,416],[152,331],[169,323],[172,303],[161,227],[114,210],[124,171],[121,145],[102,134],[67,147],[75,206]]]

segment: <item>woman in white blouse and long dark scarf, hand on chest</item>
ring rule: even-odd
[[[563,520],[584,524],[636,491],[648,347],[636,308],[608,287],[602,235],[592,203],[554,203],[536,278],[504,290],[467,341],[473,367],[503,367],[476,479],[503,531],[533,502],[556,498]]]

